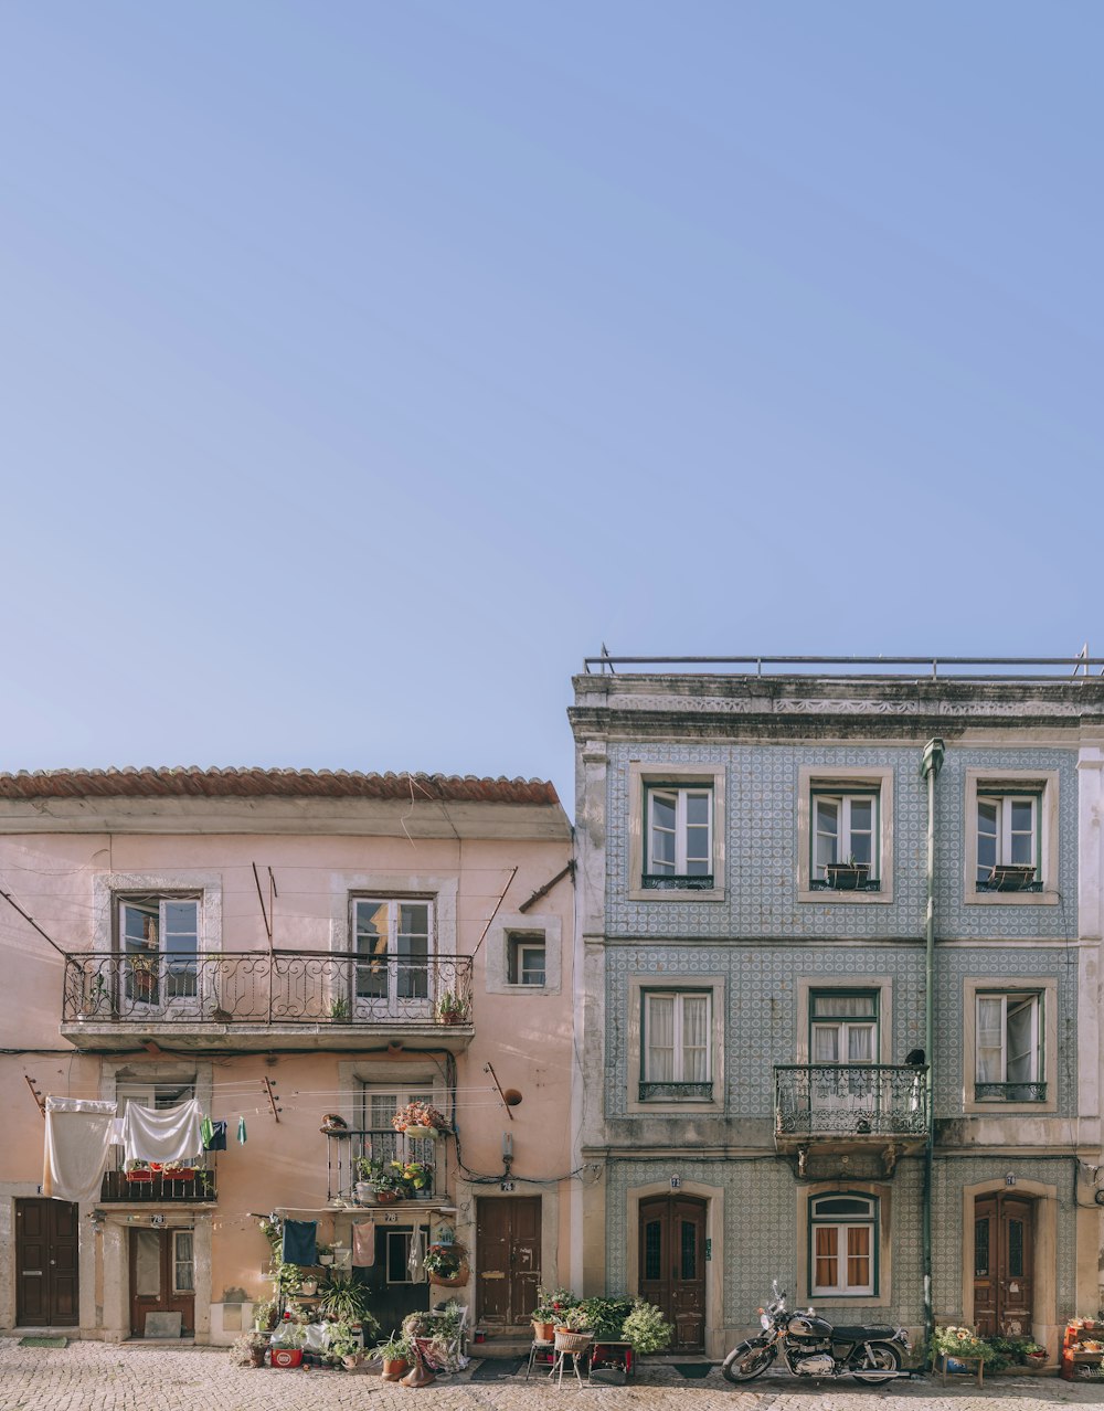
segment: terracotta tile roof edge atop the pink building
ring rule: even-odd
[[[364,775],[356,769],[21,769],[0,773],[0,799],[405,799],[558,806],[545,779],[476,775]]]

